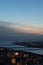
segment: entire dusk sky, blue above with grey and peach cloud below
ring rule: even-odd
[[[14,39],[43,39],[43,0],[0,0],[0,40]]]

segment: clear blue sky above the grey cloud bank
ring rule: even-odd
[[[0,21],[43,26],[43,0],[0,0]]]

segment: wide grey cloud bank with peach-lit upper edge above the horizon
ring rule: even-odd
[[[0,41],[42,40],[43,28],[0,21]]]

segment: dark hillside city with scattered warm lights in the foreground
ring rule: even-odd
[[[0,65],[43,65],[43,55],[0,47]]]

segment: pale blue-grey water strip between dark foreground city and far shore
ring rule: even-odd
[[[41,54],[43,55],[43,49],[41,48],[27,48],[25,46],[21,46],[21,45],[12,45],[10,43],[0,43],[0,47],[6,47],[6,48],[13,48],[14,50],[22,50],[25,52],[32,52],[32,53],[36,53],[36,54]]]

